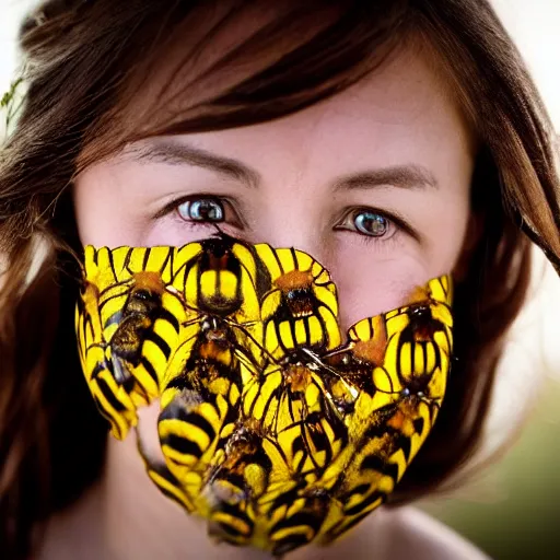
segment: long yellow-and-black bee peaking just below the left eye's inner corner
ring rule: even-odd
[[[158,422],[167,467],[189,481],[191,495],[235,429],[244,378],[257,376],[264,351],[259,300],[270,287],[243,242],[220,234],[197,245],[197,257],[173,280],[183,285],[187,319],[163,384]]]

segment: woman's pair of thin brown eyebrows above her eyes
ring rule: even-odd
[[[238,160],[218,155],[185,142],[152,139],[140,145],[130,145],[125,158],[136,162],[192,165],[240,180],[250,188],[261,182],[258,172]],[[394,165],[352,173],[335,180],[334,191],[366,190],[373,187],[393,186],[404,189],[438,188],[438,180],[427,167],[418,164]]]

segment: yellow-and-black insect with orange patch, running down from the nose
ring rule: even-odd
[[[267,364],[247,378],[243,418],[278,443],[293,476],[316,479],[345,445],[346,429],[315,357],[340,343],[336,287],[307,254],[256,245],[272,287],[261,300]]]

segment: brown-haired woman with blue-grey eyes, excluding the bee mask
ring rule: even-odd
[[[453,273],[430,439],[387,506],[293,558],[481,557],[392,505],[479,447],[530,241],[560,259],[552,128],[486,0],[52,0],[21,44],[28,91],[0,170],[4,557],[260,556],[215,548],[130,438],[107,444],[74,350],[82,245],[179,246],[215,223],[322,261],[345,327]]]

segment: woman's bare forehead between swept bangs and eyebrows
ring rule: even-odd
[[[357,84],[303,110],[185,138],[257,167],[282,164],[300,172],[415,162],[458,172],[475,151],[475,135],[433,55],[410,46],[394,51]]]

